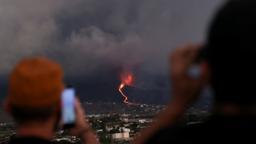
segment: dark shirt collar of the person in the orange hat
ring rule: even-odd
[[[9,144],[52,144],[52,142],[35,137],[12,139]]]

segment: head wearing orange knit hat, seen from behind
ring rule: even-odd
[[[60,111],[64,88],[61,66],[44,57],[20,61],[9,77],[6,109],[18,124],[46,121]]]

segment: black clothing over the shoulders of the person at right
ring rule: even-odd
[[[212,117],[209,121],[165,128],[148,140],[155,143],[252,143],[255,142],[256,117]]]

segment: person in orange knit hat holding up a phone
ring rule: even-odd
[[[26,58],[15,66],[4,102],[5,110],[18,124],[17,139],[11,140],[11,144],[51,143],[61,118],[64,86],[62,67],[48,58]],[[78,99],[75,108],[76,121],[70,132],[84,142],[97,144]]]

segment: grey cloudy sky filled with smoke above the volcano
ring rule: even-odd
[[[168,55],[180,44],[204,42],[223,2],[0,1],[1,83],[20,59],[41,55],[58,61],[67,81],[104,85],[124,72],[139,88],[166,89],[168,80],[159,81],[168,77]]]

